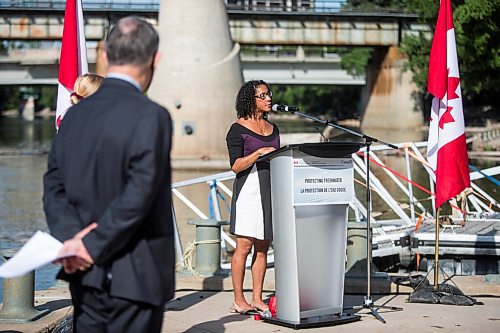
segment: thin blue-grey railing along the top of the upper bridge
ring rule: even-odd
[[[117,11],[158,11],[161,0],[83,0],[84,10]],[[228,11],[250,12],[359,12],[366,11],[362,6],[365,1],[347,0],[224,0]],[[0,0],[1,9],[11,10],[64,10],[65,0]],[[378,7],[373,12],[402,12],[399,7]]]

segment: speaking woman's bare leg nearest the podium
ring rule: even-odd
[[[251,304],[259,310],[266,310],[269,307],[262,300],[262,288],[264,286],[264,277],[267,268],[267,250],[269,249],[269,240],[254,241],[254,253],[252,258],[252,302]]]

